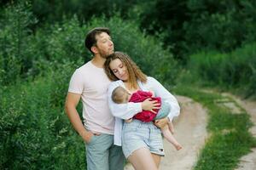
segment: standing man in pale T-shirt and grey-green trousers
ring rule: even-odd
[[[94,55],[71,78],[65,109],[73,127],[84,139],[88,170],[122,170],[125,156],[113,145],[114,117],[108,108],[110,81],[104,72],[106,57],[113,54],[108,28],[94,28],[85,37],[85,46]],[[83,103],[84,125],[76,107]]]

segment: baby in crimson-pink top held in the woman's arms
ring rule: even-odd
[[[151,92],[138,90],[137,92],[130,94],[125,88],[119,86],[115,88],[112,93],[113,102],[117,104],[125,104],[128,102],[143,102],[145,99],[148,98],[157,100],[161,104],[161,109],[153,110],[157,112],[156,114],[152,111],[142,111],[133,116],[133,118],[140,120],[142,122],[151,122],[168,116],[170,111],[170,105],[166,102],[161,102],[161,99],[159,97],[153,97],[153,93]],[[125,122],[131,121],[132,118],[129,120],[125,120]],[[182,149],[182,145],[179,144],[177,140],[173,137],[171,131],[168,128],[168,125],[162,127],[161,132],[163,133],[164,137],[175,146],[176,150]]]

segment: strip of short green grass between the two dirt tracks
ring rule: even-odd
[[[195,170],[234,169],[239,158],[256,146],[256,140],[248,132],[253,123],[246,111],[241,109],[240,114],[232,114],[228,108],[217,104],[216,100],[226,97],[185,85],[177,86],[173,90],[176,94],[194,99],[208,110],[207,132],[211,135],[201,150]]]

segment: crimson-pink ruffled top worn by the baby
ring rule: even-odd
[[[138,102],[143,102],[145,99],[152,99],[152,100],[157,100],[158,103],[161,104],[161,99],[160,97],[152,97],[152,93],[150,92],[144,92],[142,90],[138,90],[137,92],[131,94],[131,99],[129,100],[129,102],[134,102],[134,103],[138,103]],[[159,109],[154,109],[153,111],[158,112]],[[152,111],[142,111],[137,113],[135,116],[133,116],[133,118],[140,120],[142,122],[151,122],[154,120],[154,117],[157,114],[154,114]]]

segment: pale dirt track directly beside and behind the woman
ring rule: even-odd
[[[166,156],[162,158],[160,170],[192,169],[197,160],[199,150],[207,138],[207,111],[192,99],[177,96],[182,111],[174,120],[175,138],[183,145],[182,150],[175,150],[172,144],[164,141]],[[127,164],[125,170],[133,170]]]

